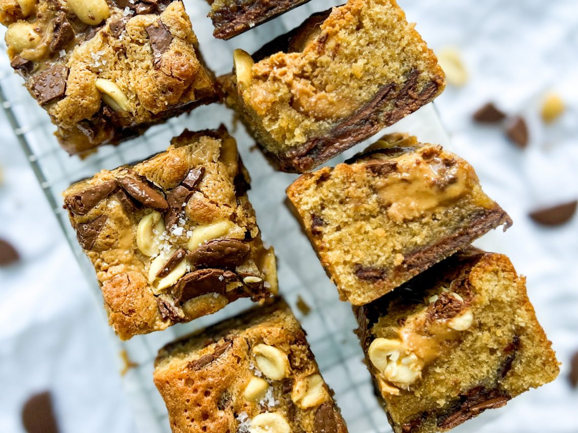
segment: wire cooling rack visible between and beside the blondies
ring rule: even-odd
[[[193,4],[189,4],[190,2]],[[249,52],[256,50],[263,43],[301,23],[311,13],[327,9],[338,2],[313,0],[228,42],[212,38],[212,26],[205,17],[208,13],[206,2],[186,0],[185,3],[206,62],[220,74],[231,70],[232,51],[235,48],[241,47]],[[3,30],[0,35],[3,36]],[[3,42],[1,44],[4,51],[5,46]],[[184,128],[198,130],[217,128],[221,123],[227,125],[229,132],[238,141],[239,152],[252,177],[253,189],[249,191],[249,197],[257,212],[257,221],[264,240],[274,245],[276,249],[280,293],[292,306],[295,315],[307,331],[320,370],[329,386],[335,390],[336,400],[342,409],[349,431],[352,433],[391,431],[386,416],[373,394],[370,376],[362,362],[363,353],[357,337],[352,332],[357,324],[351,307],[339,301],[334,285],[325,275],[309,241],[285,205],[285,188],[296,176],[275,172],[261,153],[255,150],[253,140],[243,128],[236,128],[231,111],[217,104],[200,107],[190,115],[182,115],[169,120],[166,124],[150,128],[138,139],[117,147],[102,147],[96,154],[81,160],[76,156],[68,156],[59,147],[53,135],[54,125],[22,84],[21,77],[13,73],[8,59],[2,55],[0,102],[99,302],[102,302],[102,297],[94,269],[81,251],[68,216],[62,209],[62,191],[72,182],[90,177],[101,169],[113,169],[164,150],[168,147],[171,137],[179,135]],[[411,132],[421,141],[440,143],[446,147],[449,145],[432,104],[423,107],[388,130],[394,131]],[[342,162],[362,148],[364,144],[345,152],[329,164]],[[312,308],[309,314],[305,315],[296,308],[298,297]],[[123,383],[134,410],[134,419],[139,432],[170,431],[164,402],[152,381],[157,350],[180,335],[202,329],[250,306],[250,301],[239,300],[214,315],[199,318],[188,324],[177,324],[165,331],[139,335],[129,342],[120,342],[110,331],[110,338],[116,342],[118,350],[126,350],[129,359],[138,364],[127,372]],[[105,320],[103,314],[103,326],[106,326]]]

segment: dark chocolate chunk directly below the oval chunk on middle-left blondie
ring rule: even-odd
[[[230,271],[199,269],[179,279],[173,289],[173,295],[182,304],[206,293],[225,294],[227,283],[235,279],[236,275]]]

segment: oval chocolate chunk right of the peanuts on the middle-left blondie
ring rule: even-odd
[[[235,268],[249,255],[249,245],[237,239],[214,239],[191,251],[187,260],[196,267]]]

